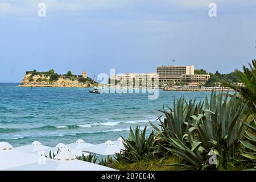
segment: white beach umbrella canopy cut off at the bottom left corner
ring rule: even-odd
[[[0,170],[37,163],[38,155],[11,149],[0,150]]]

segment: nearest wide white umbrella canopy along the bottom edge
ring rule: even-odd
[[[82,160],[46,159],[44,164],[31,163],[9,168],[9,171],[117,171],[109,167],[84,162]]]

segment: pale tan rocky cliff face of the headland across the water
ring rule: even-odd
[[[50,76],[39,74],[32,75],[27,73],[19,86],[38,86],[38,87],[89,87],[94,86],[96,82],[93,82],[90,78],[79,80],[76,77],[59,76],[56,80],[51,80]]]

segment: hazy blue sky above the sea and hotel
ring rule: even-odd
[[[255,0],[0,0],[0,82],[33,69],[156,72],[173,59],[229,73],[256,59],[255,10]]]

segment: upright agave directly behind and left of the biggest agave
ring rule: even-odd
[[[203,113],[203,102],[196,103],[196,100],[189,100],[187,103],[185,98],[180,98],[177,103],[174,101],[174,109],[170,107],[168,109],[170,111],[164,108],[160,110],[165,116],[164,120],[161,117],[158,118],[160,128],[150,123],[157,131],[156,150],[154,152],[159,154],[164,154],[166,147],[171,147],[171,138],[182,139],[184,134],[188,133],[191,125],[195,124],[191,116]]]

